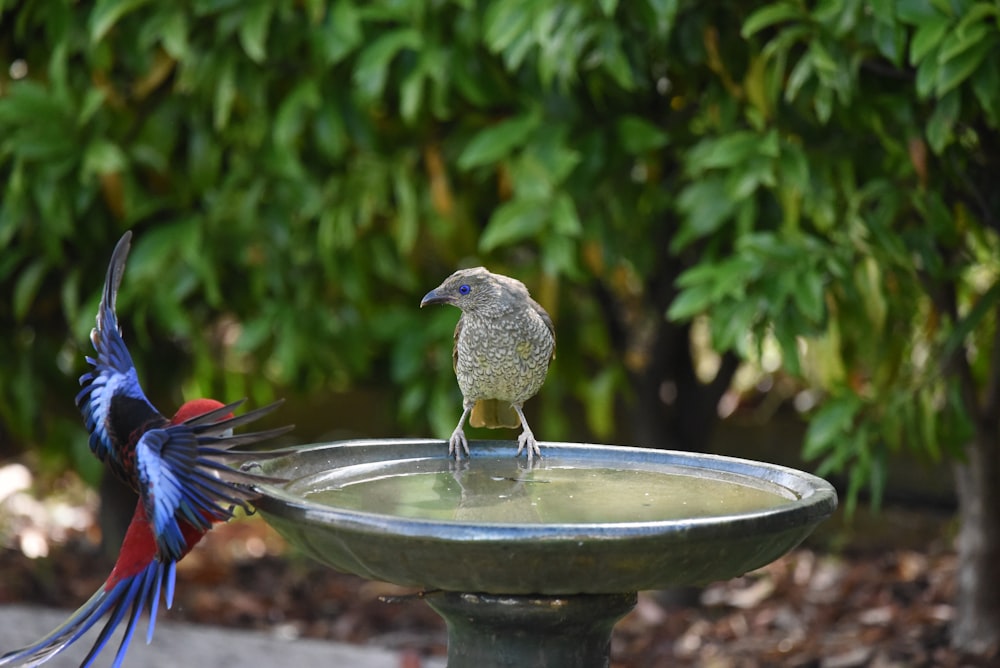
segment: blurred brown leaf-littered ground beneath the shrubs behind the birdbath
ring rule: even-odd
[[[30,483],[26,469],[16,466],[0,468],[0,605],[74,608],[110,570],[98,556],[93,492],[67,479],[40,501],[22,484]],[[822,551],[801,548],[711,585],[695,605],[642,593],[616,627],[613,666],[996,665],[998,657],[961,657],[948,647],[955,556],[944,538],[947,517],[933,519],[933,513],[888,509],[877,522],[894,529],[891,542],[869,536],[836,553],[830,546],[850,535],[831,523],[813,543],[824,545]],[[913,527],[909,541],[897,535],[906,526]],[[410,657],[407,665],[445,653],[443,623],[418,598],[407,597],[414,592],[316,565],[258,518],[212,531],[179,571],[168,620],[256,630],[274,642],[374,645]]]

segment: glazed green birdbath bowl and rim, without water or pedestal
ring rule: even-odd
[[[446,591],[601,594],[740,575],[798,545],[837,506],[828,482],[775,464],[633,446],[541,446],[542,466],[565,461],[679,466],[691,474],[703,470],[757,479],[796,498],[763,510],[681,520],[483,523],[337,508],[303,498],[287,485],[262,484],[256,507],[310,556],[362,577]],[[469,467],[481,459],[512,459],[516,449],[513,441],[471,441],[470,447],[471,461],[464,465]],[[443,440],[359,439],[289,448],[259,466],[268,475],[304,479],[336,467],[443,460],[446,452]]]

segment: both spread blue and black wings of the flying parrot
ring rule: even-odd
[[[219,420],[242,403],[238,401],[177,425],[153,407],[139,385],[115,313],[131,238],[131,232],[122,236],[108,265],[97,326],[90,333],[97,354],[87,357],[93,368],[80,377],[83,389],[76,404],[90,432],[90,449],[138,493],[160,551],[176,559],[184,548],[180,520],[207,530],[213,521],[229,519],[230,506],[247,509],[253,494],[247,483],[259,478],[232,468],[230,463],[248,455],[227,450],[289,428],[220,436],[274,410],[278,402]]]

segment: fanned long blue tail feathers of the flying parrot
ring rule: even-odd
[[[109,579],[90,597],[90,600],[80,606],[69,619],[47,636],[27,647],[0,656],[0,666],[41,665],[78,640],[102,617],[110,615],[90,653],[80,665],[81,668],[93,665],[97,655],[111,639],[115,628],[127,616],[128,623],[125,627],[125,635],[118,646],[112,664],[118,668],[125,658],[125,652],[132,640],[136,623],[143,610],[146,609],[149,610],[149,630],[146,634],[146,642],[148,643],[152,639],[161,590],[165,590],[167,607],[170,607],[174,589],[174,566],[174,562],[164,563],[153,560],[135,575],[122,578],[114,584]]]

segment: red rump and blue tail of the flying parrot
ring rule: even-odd
[[[204,535],[204,532],[199,532],[190,525],[183,528],[183,533],[187,545],[185,553]],[[105,615],[108,615],[108,621],[81,665],[93,665],[115,629],[127,616],[125,635],[112,664],[120,666],[141,614],[149,611],[146,633],[146,642],[149,642],[156,625],[161,592],[165,594],[168,608],[173,599],[176,561],[161,561],[155,555],[156,542],[146,519],[145,509],[140,503],[125,534],[114,570],[101,588],[47,636],[27,647],[0,656],[0,666],[41,665],[76,642]]]

